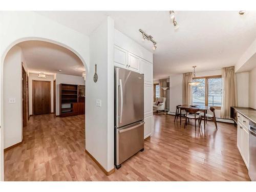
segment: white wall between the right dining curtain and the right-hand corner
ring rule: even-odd
[[[249,106],[249,72],[236,73],[238,106]]]

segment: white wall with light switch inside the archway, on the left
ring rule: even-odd
[[[4,148],[22,141],[22,49],[14,46],[4,61]],[[9,98],[15,98],[15,103],[9,103]]]

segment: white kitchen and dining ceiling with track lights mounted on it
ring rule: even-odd
[[[43,11],[37,12],[83,34],[90,35],[106,15],[115,28],[154,53],[154,79],[170,74],[234,66],[256,38],[256,12],[176,11],[174,30],[168,11]],[[139,29],[152,35],[142,41]]]

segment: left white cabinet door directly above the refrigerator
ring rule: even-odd
[[[115,46],[115,48],[114,48],[115,66],[125,68],[127,65],[127,56],[128,56],[128,51],[126,51],[118,46]]]

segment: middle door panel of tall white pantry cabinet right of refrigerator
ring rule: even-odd
[[[144,84],[144,114],[153,113],[153,86]]]

